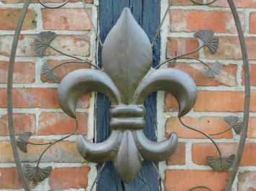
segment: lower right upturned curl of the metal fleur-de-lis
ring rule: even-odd
[[[150,141],[142,130],[134,132],[133,136],[141,157],[147,161],[164,161],[171,157],[177,149],[178,137],[175,133],[172,133],[168,139],[162,142]]]

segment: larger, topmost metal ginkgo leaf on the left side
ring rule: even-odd
[[[50,46],[50,42],[56,39],[58,35],[55,32],[40,32],[35,39],[35,52],[39,57],[44,56],[45,49]]]

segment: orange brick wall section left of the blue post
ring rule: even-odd
[[[15,168],[12,147],[8,137],[6,116],[6,77],[9,64],[9,53],[12,46],[14,29],[22,8],[19,0],[0,1],[0,190],[22,189],[17,169]],[[32,141],[45,141],[61,138],[74,129],[74,120],[62,112],[57,101],[56,83],[44,83],[40,78],[40,68],[45,60],[50,65],[70,60],[69,57],[48,51],[47,56],[40,59],[32,47],[35,34],[43,30],[51,30],[58,34],[53,42],[63,52],[77,55],[95,62],[95,34],[89,23],[83,6],[79,1],[71,1],[61,9],[44,9],[32,1],[25,18],[22,34],[19,37],[17,62],[14,69],[14,125],[16,134],[23,131],[32,132]],[[48,3],[52,1],[47,1]],[[61,0],[59,1],[61,2]],[[54,4],[52,4],[54,5]],[[89,13],[97,22],[97,2],[87,0]],[[81,22],[82,21],[82,22]],[[58,68],[60,78],[88,65],[66,65]],[[60,79],[61,80],[61,79]],[[79,129],[77,134],[93,138],[94,96],[84,95],[79,103]],[[91,129],[87,128],[88,126]],[[28,146],[27,154],[19,152],[22,162],[37,162],[45,146]],[[94,164],[82,159],[76,149],[76,137],[61,141],[45,153],[41,167],[52,166],[53,172],[48,180],[40,185],[32,185],[35,190],[83,190],[92,185],[96,176]],[[89,177],[89,180],[88,180]]]

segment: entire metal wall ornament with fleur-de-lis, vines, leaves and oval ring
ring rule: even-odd
[[[68,1],[69,0],[56,7],[46,6],[42,1],[40,1],[40,4],[48,9],[55,9],[65,5]],[[192,1],[194,4],[207,6],[209,4],[213,4],[217,0],[210,1],[205,4],[198,3],[194,0],[188,1]],[[218,144],[216,144],[212,138],[212,136],[223,134],[226,131],[219,132],[218,134],[205,134],[203,131],[187,126],[182,121],[182,116],[185,116],[193,108],[196,101],[197,88],[193,79],[181,70],[172,68],[159,69],[167,62],[179,59],[197,60],[206,66],[205,70],[202,71],[202,75],[207,78],[215,78],[221,71],[220,62],[216,61],[213,65],[208,65],[206,62],[203,62],[203,60],[191,57],[190,55],[203,48],[207,48],[208,51],[214,55],[219,48],[219,37],[216,37],[214,32],[208,29],[202,29],[195,32],[194,36],[201,42],[200,47],[182,55],[175,55],[175,57],[171,57],[154,68],[151,67],[153,60],[152,47],[160,32],[163,20],[169,11],[169,7],[172,6],[172,4],[169,5],[166,13],[164,14],[164,18],[152,42],[149,41],[146,33],[133,18],[133,15],[128,8],[123,10],[123,13],[120,15],[120,19],[118,19],[118,22],[114,27],[112,27],[109,34],[107,34],[107,38],[104,43],[100,40],[99,34],[96,32],[96,28],[92,24],[99,43],[102,45],[102,68],[97,65],[92,65],[88,60],[68,55],[61,50],[57,50],[56,47],[53,47],[51,42],[53,42],[57,37],[55,32],[40,32],[35,39],[35,52],[37,52],[38,57],[44,57],[45,50],[50,48],[61,55],[65,55],[76,60],[63,62],[55,67],[51,67],[48,62],[45,62],[41,68],[41,77],[44,81],[56,83],[59,79],[54,70],[57,67],[62,67],[66,64],[84,63],[85,65],[91,65],[94,69],[75,70],[66,75],[58,86],[58,102],[60,103],[61,108],[68,116],[74,118],[74,121],[76,121],[76,126],[71,134],[63,136],[63,138],[56,141],[44,144],[31,142],[31,132],[24,132],[15,137],[12,109],[12,83],[14,60],[16,57],[19,34],[28,6],[30,5],[30,0],[25,0],[19,17],[19,22],[17,24],[17,29],[14,34],[7,87],[9,134],[12,142],[14,159],[25,190],[31,190],[27,178],[38,183],[49,176],[52,171],[52,167],[40,167],[40,161],[43,154],[45,154],[45,152],[47,152],[47,150],[54,144],[57,144],[59,141],[67,139],[69,136],[73,136],[76,133],[76,130],[78,129],[76,103],[81,95],[84,95],[84,93],[87,92],[97,91],[103,93],[107,95],[111,101],[110,115],[112,118],[110,120],[110,127],[112,129],[112,134],[110,137],[106,141],[98,144],[92,143],[92,141],[89,141],[84,136],[78,136],[77,138],[77,149],[84,159],[89,162],[103,163],[97,178],[100,176],[100,172],[105,167],[105,162],[107,161],[112,161],[121,180],[125,183],[129,183],[138,176],[141,169],[141,162],[143,160],[151,161],[154,164],[154,162],[160,162],[168,159],[175,153],[175,149],[177,148],[177,134],[172,133],[164,141],[154,142],[147,139],[143,132],[143,129],[146,128],[144,121],[144,101],[150,93],[159,90],[164,90],[175,96],[179,103],[178,118],[183,126],[203,134],[216,146],[216,149],[219,152],[219,157],[208,156],[208,165],[214,171],[225,171],[232,167],[231,177],[226,185],[226,191],[231,190],[231,186],[233,185],[234,178],[236,177],[237,169],[239,167],[239,162],[242,157],[242,150],[244,148],[247,135],[250,108],[250,73],[247,49],[237,9],[232,0],[227,1],[237,25],[237,32],[239,34],[240,45],[242,48],[245,76],[244,118],[243,120],[237,116],[229,116],[226,118],[226,121],[230,124],[230,128],[226,129],[226,131],[234,129],[236,134],[241,134],[237,154],[232,154],[231,156],[224,156],[221,153]],[[87,7],[84,1],[83,4],[86,11]],[[89,16],[88,13],[87,15]],[[91,20],[90,17],[89,19]],[[47,145],[47,147],[40,155],[35,166],[32,166],[31,164],[24,164],[22,167],[17,147],[22,152],[29,152],[27,151],[27,144],[34,144],[37,146]],[[154,167],[158,170],[155,164]],[[92,187],[96,183],[97,178]],[[162,179],[161,176],[160,178]],[[164,184],[164,180],[162,180],[162,182]],[[164,187],[165,190],[167,190],[166,185],[164,185]],[[211,188],[204,185],[198,185],[190,190],[198,188],[211,190]]]

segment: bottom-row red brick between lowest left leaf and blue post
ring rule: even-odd
[[[51,189],[87,188],[89,167],[63,167],[53,169],[50,174]]]

